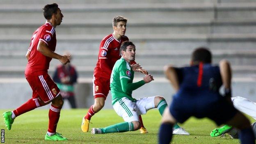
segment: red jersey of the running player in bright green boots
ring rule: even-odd
[[[43,73],[47,73],[50,61],[52,60],[51,57],[46,57],[37,50],[39,41],[45,42],[50,50],[55,51],[55,28],[50,23],[46,22],[33,33],[30,47],[28,48],[30,58],[28,59],[25,70],[25,73],[28,75],[42,75]]]

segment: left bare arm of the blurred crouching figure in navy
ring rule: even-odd
[[[179,87],[178,75],[173,66],[167,65],[164,67],[164,72],[167,79],[171,82],[172,87],[177,92]]]

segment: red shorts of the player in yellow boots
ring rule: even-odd
[[[107,94],[110,90],[110,79],[98,78],[94,76],[93,80],[93,94],[94,98],[107,98]]]

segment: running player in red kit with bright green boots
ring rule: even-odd
[[[46,140],[67,140],[56,132],[60,110],[63,105],[59,88],[48,75],[49,64],[52,58],[58,59],[62,64],[69,62],[70,55],[55,53],[56,33],[55,27],[62,22],[62,12],[58,5],[53,3],[43,8],[46,23],[39,27],[31,38],[30,47],[26,57],[28,60],[25,77],[33,90],[32,98],[11,112],[4,112],[4,120],[8,130],[14,119],[25,112],[51,103],[49,110],[49,125],[45,135]]]

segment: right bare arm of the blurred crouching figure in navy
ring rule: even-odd
[[[223,59],[219,62],[219,70],[220,70],[220,75],[222,77],[222,83],[225,88],[225,93],[228,96],[231,96],[231,67],[229,64],[229,61],[226,59]]]

